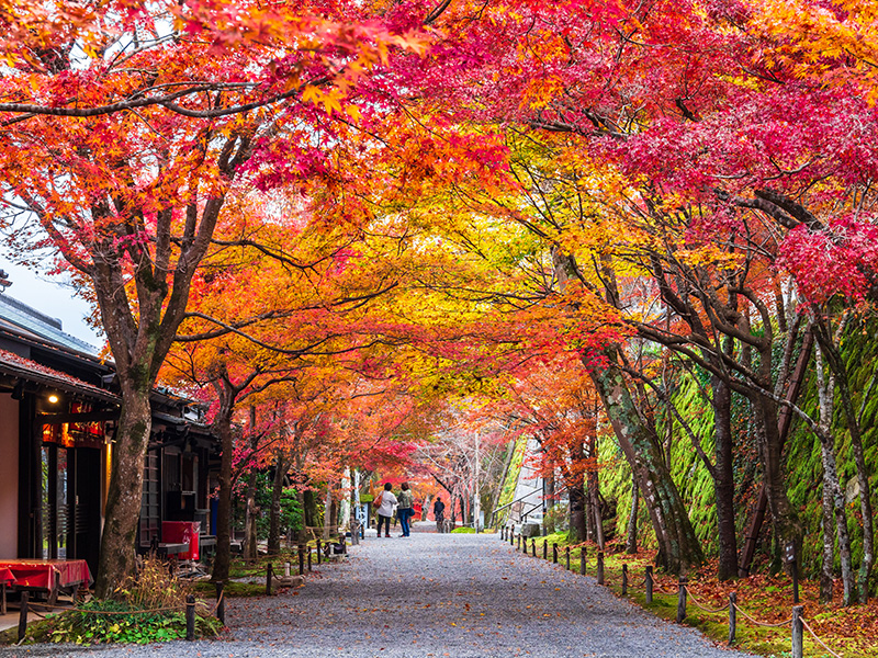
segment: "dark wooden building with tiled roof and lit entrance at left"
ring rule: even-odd
[[[0,558],[97,569],[120,401],[111,361],[0,294]],[[137,547],[162,541],[164,521],[190,519],[210,544],[217,441],[191,400],[155,390],[151,401]]]

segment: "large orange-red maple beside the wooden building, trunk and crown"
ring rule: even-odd
[[[122,1],[3,13],[5,226],[18,249],[49,245],[91,280],[122,389],[101,597],[134,568],[149,390],[245,167],[252,178],[297,152],[300,173],[324,168],[315,137],[345,114],[354,81],[387,48],[417,45],[369,23],[369,9]]]

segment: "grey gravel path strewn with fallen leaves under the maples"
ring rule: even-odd
[[[106,658],[743,658],[658,620],[589,577],[497,535],[370,538],[286,594],[232,599],[230,638],[112,648],[35,645],[2,656]]]

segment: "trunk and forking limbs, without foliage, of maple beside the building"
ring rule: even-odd
[[[249,138],[230,135],[217,151],[218,179],[230,183],[236,168],[250,156]],[[185,317],[192,277],[211,245],[211,238],[225,203],[225,192],[199,194],[199,174],[193,173],[187,207],[173,207],[171,198],[153,200],[156,205],[155,248],[124,250],[122,256],[116,237],[143,231],[137,222],[126,217],[143,217],[144,208],[130,200],[114,198],[126,208],[115,222],[103,202],[90,208],[91,217],[101,226],[87,242],[90,262],[83,263],[74,249],[63,253],[69,262],[88,274],[94,284],[94,296],[106,332],[106,341],[116,364],[116,377],[122,389],[120,427],[110,475],[105,521],[101,536],[95,595],[105,598],[134,574],[134,537],[143,496],[144,457],[149,444],[151,409],[149,396],[165,358],[173,344],[177,329]],[[214,190],[223,185],[212,185]],[[104,192],[110,192],[109,189]],[[162,205],[167,203],[168,205]],[[185,216],[183,239],[172,249],[173,225],[178,211]],[[199,217],[199,214],[201,215]],[[105,223],[105,225],[103,224]],[[131,232],[130,232],[130,229]],[[145,234],[144,234],[145,235]],[[72,258],[71,258],[72,257]],[[127,257],[131,257],[127,258]],[[126,291],[136,294],[130,300]],[[230,456],[229,456],[230,460]],[[228,522],[228,517],[226,517]],[[228,533],[226,531],[226,542]],[[217,557],[219,557],[217,536]],[[227,549],[227,548],[226,548]]]

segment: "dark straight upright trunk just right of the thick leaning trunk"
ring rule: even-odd
[[[734,524],[734,463],[732,439],[732,392],[725,381],[712,378],[714,454],[713,496],[717,502],[717,534],[720,561],[718,578],[738,576],[738,535]]]

